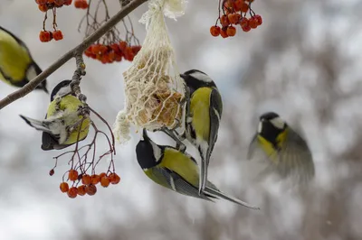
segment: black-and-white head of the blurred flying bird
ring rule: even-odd
[[[287,128],[287,126],[288,125],[276,113],[265,113],[260,116],[258,134],[262,135],[262,137],[269,142],[276,143],[276,138]]]

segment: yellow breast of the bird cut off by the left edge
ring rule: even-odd
[[[0,30],[0,69],[5,75],[13,78],[15,82],[21,81],[25,78],[26,69],[31,61],[28,51],[11,35]],[[5,80],[1,73],[0,78]]]

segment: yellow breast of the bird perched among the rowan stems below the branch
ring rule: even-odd
[[[47,118],[49,118],[52,115],[57,114],[57,109],[55,107],[56,105],[57,105],[56,100],[53,100],[52,103],[48,107]],[[62,111],[67,111],[68,113],[77,112],[78,108],[80,106],[83,106],[81,101],[77,97],[74,97],[71,95],[62,97],[62,100],[59,104],[59,108]],[[65,122],[66,122],[65,124],[73,125],[73,124],[77,123],[78,121],[81,121],[81,118],[82,118],[82,116],[79,115],[78,117],[75,117],[75,118],[65,119]],[[89,128],[90,128],[90,118],[89,117],[85,118],[83,120],[83,123],[81,125],[79,125],[77,128],[74,128],[74,130],[69,135],[68,139],[63,144],[76,143],[78,140],[78,133],[80,131],[80,128],[81,128],[81,133],[79,135],[79,140],[85,138],[89,132]]]

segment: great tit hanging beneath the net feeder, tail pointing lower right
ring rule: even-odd
[[[199,194],[199,170],[195,159],[186,152],[167,145],[157,145],[143,129],[143,140],[136,146],[139,166],[149,179],[178,193],[195,198],[213,201],[224,198],[247,208],[259,209],[240,199],[226,195],[210,181],[206,182],[205,191]]]

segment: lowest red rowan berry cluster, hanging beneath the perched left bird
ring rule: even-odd
[[[88,194],[90,196],[96,194],[96,185],[100,183],[100,186],[107,188],[110,184],[118,184],[120,181],[119,175],[115,172],[105,172],[89,175],[85,172],[79,174],[78,171],[71,169],[68,172],[68,180],[71,180],[72,187],[69,187],[68,182],[62,181],[60,189],[62,192],[66,192],[69,198],[76,198]],[[77,186],[81,182],[80,186]]]

